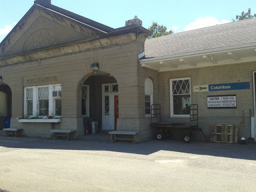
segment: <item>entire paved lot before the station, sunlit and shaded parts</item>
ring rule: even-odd
[[[255,145],[0,136],[12,191],[254,191]]]

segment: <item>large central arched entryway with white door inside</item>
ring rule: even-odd
[[[111,74],[94,72],[83,80],[80,112],[85,129],[89,128],[92,121],[98,122],[98,132],[116,129],[118,83]]]

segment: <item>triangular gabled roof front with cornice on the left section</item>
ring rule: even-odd
[[[37,60],[102,48],[134,40],[143,43],[150,33],[140,24],[129,24],[114,29],[54,6],[50,0],[35,0],[0,42],[0,65],[24,62],[27,58]],[[54,49],[50,54],[49,48]]]

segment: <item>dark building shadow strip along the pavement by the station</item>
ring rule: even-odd
[[[110,135],[85,135],[77,140],[49,139],[40,137],[0,136],[0,146],[30,149],[62,149],[62,150],[102,150],[133,154],[149,155],[160,150],[183,152],[199,155],[220,156],[256,160],[256,145],[227,144],[193,140],[183,143],[179,139],[148,140],[138,144],[130,142],[110,142]]]

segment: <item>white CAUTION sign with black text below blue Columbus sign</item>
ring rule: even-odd
[[[236,108],[236,95],[211,95],[207,96],[208,108]]]

